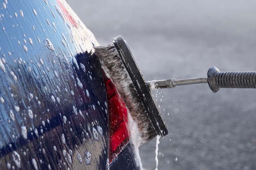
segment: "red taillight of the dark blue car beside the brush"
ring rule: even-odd
[[[103,73],[104,74],[104,73]],[[112,81],[104,75],[108,97],[109,163],[123,150],[129,141],[127,109]]]

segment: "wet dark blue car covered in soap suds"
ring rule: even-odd
[[[62,0],[1,5],[0,169],[139,169],[92,32]]]

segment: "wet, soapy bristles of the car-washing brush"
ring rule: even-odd
[[[137,123],[138,130],[143,139],[142,143],[153,139],[157,132],[148,116],[145,106],[122,62],[115,45],[94,47],[95,55],[101,61],[101,67],[114,83],[132,119]],[[141,144],[142,144],[141,143]]]

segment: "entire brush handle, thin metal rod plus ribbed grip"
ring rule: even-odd
[[[256,72],[220,72],[218,68],[211,67],[207,72],[207,77],[148,81],[147,85],[152,90],[198,83],[208,83],[214,93],[220,88],[256,88]]]

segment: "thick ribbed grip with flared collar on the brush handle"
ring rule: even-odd
[[[214,93],[220,88],[256,88],[256,72],[220,72],[218,68],[211,67],[207,77]]]

